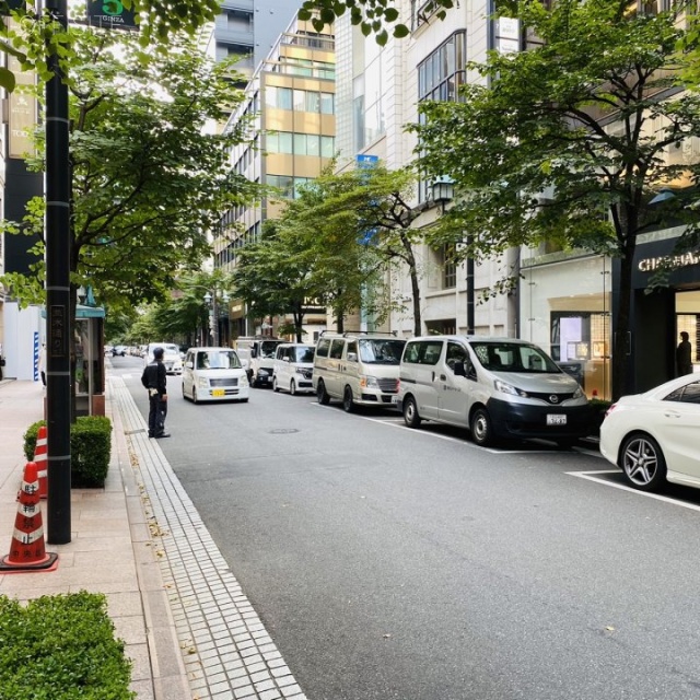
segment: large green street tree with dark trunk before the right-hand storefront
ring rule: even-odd
[[[433,243],[479,261],[511,246],[558,242],[619,259],[614,300],[612,395],[627,393],[621,342],[630,330],[639,236],[669,222],[697,233],[692,209],[651,203],[660,188],[696,182],[698,164],[670,160],[700,136],[700,98],[680,75],[697,38],[673,12],[643,15],[629,2],[522,2],[516,12],[541,40],[471,65],[482,84],[463,103],[423,103],[420,166],[458,186]],[[681,242],[682,243],[682,242]]]

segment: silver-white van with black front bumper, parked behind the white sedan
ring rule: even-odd
[[[544,438],[568,447],[591,429],[579,383],[540,348],[514,338],[409,340],[398,407],[409,428],[421,420],[463,425],[479,445]]]

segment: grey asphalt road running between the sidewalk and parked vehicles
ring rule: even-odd
[[[140,361],[113,365],[147,411]],[[629,490],[595,451],[168,387],[161,446],[310,700],[700,698],[700,491]]]

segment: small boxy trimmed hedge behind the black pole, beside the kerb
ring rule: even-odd
[[[24,455],[34,459],[36,436],[46,421],[32,423],[24,433]],[[71,486],[102,488],[109,470],[112,422],[105,416],[80,416],[70,427]]]

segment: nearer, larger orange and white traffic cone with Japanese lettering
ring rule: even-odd
[[[47,552],[44,546],[36,464],[27,462],[24,467],[24,480],[20,491],[10,553],[0,559],[0,574],[54,571],[57,567],[58,555]]]

